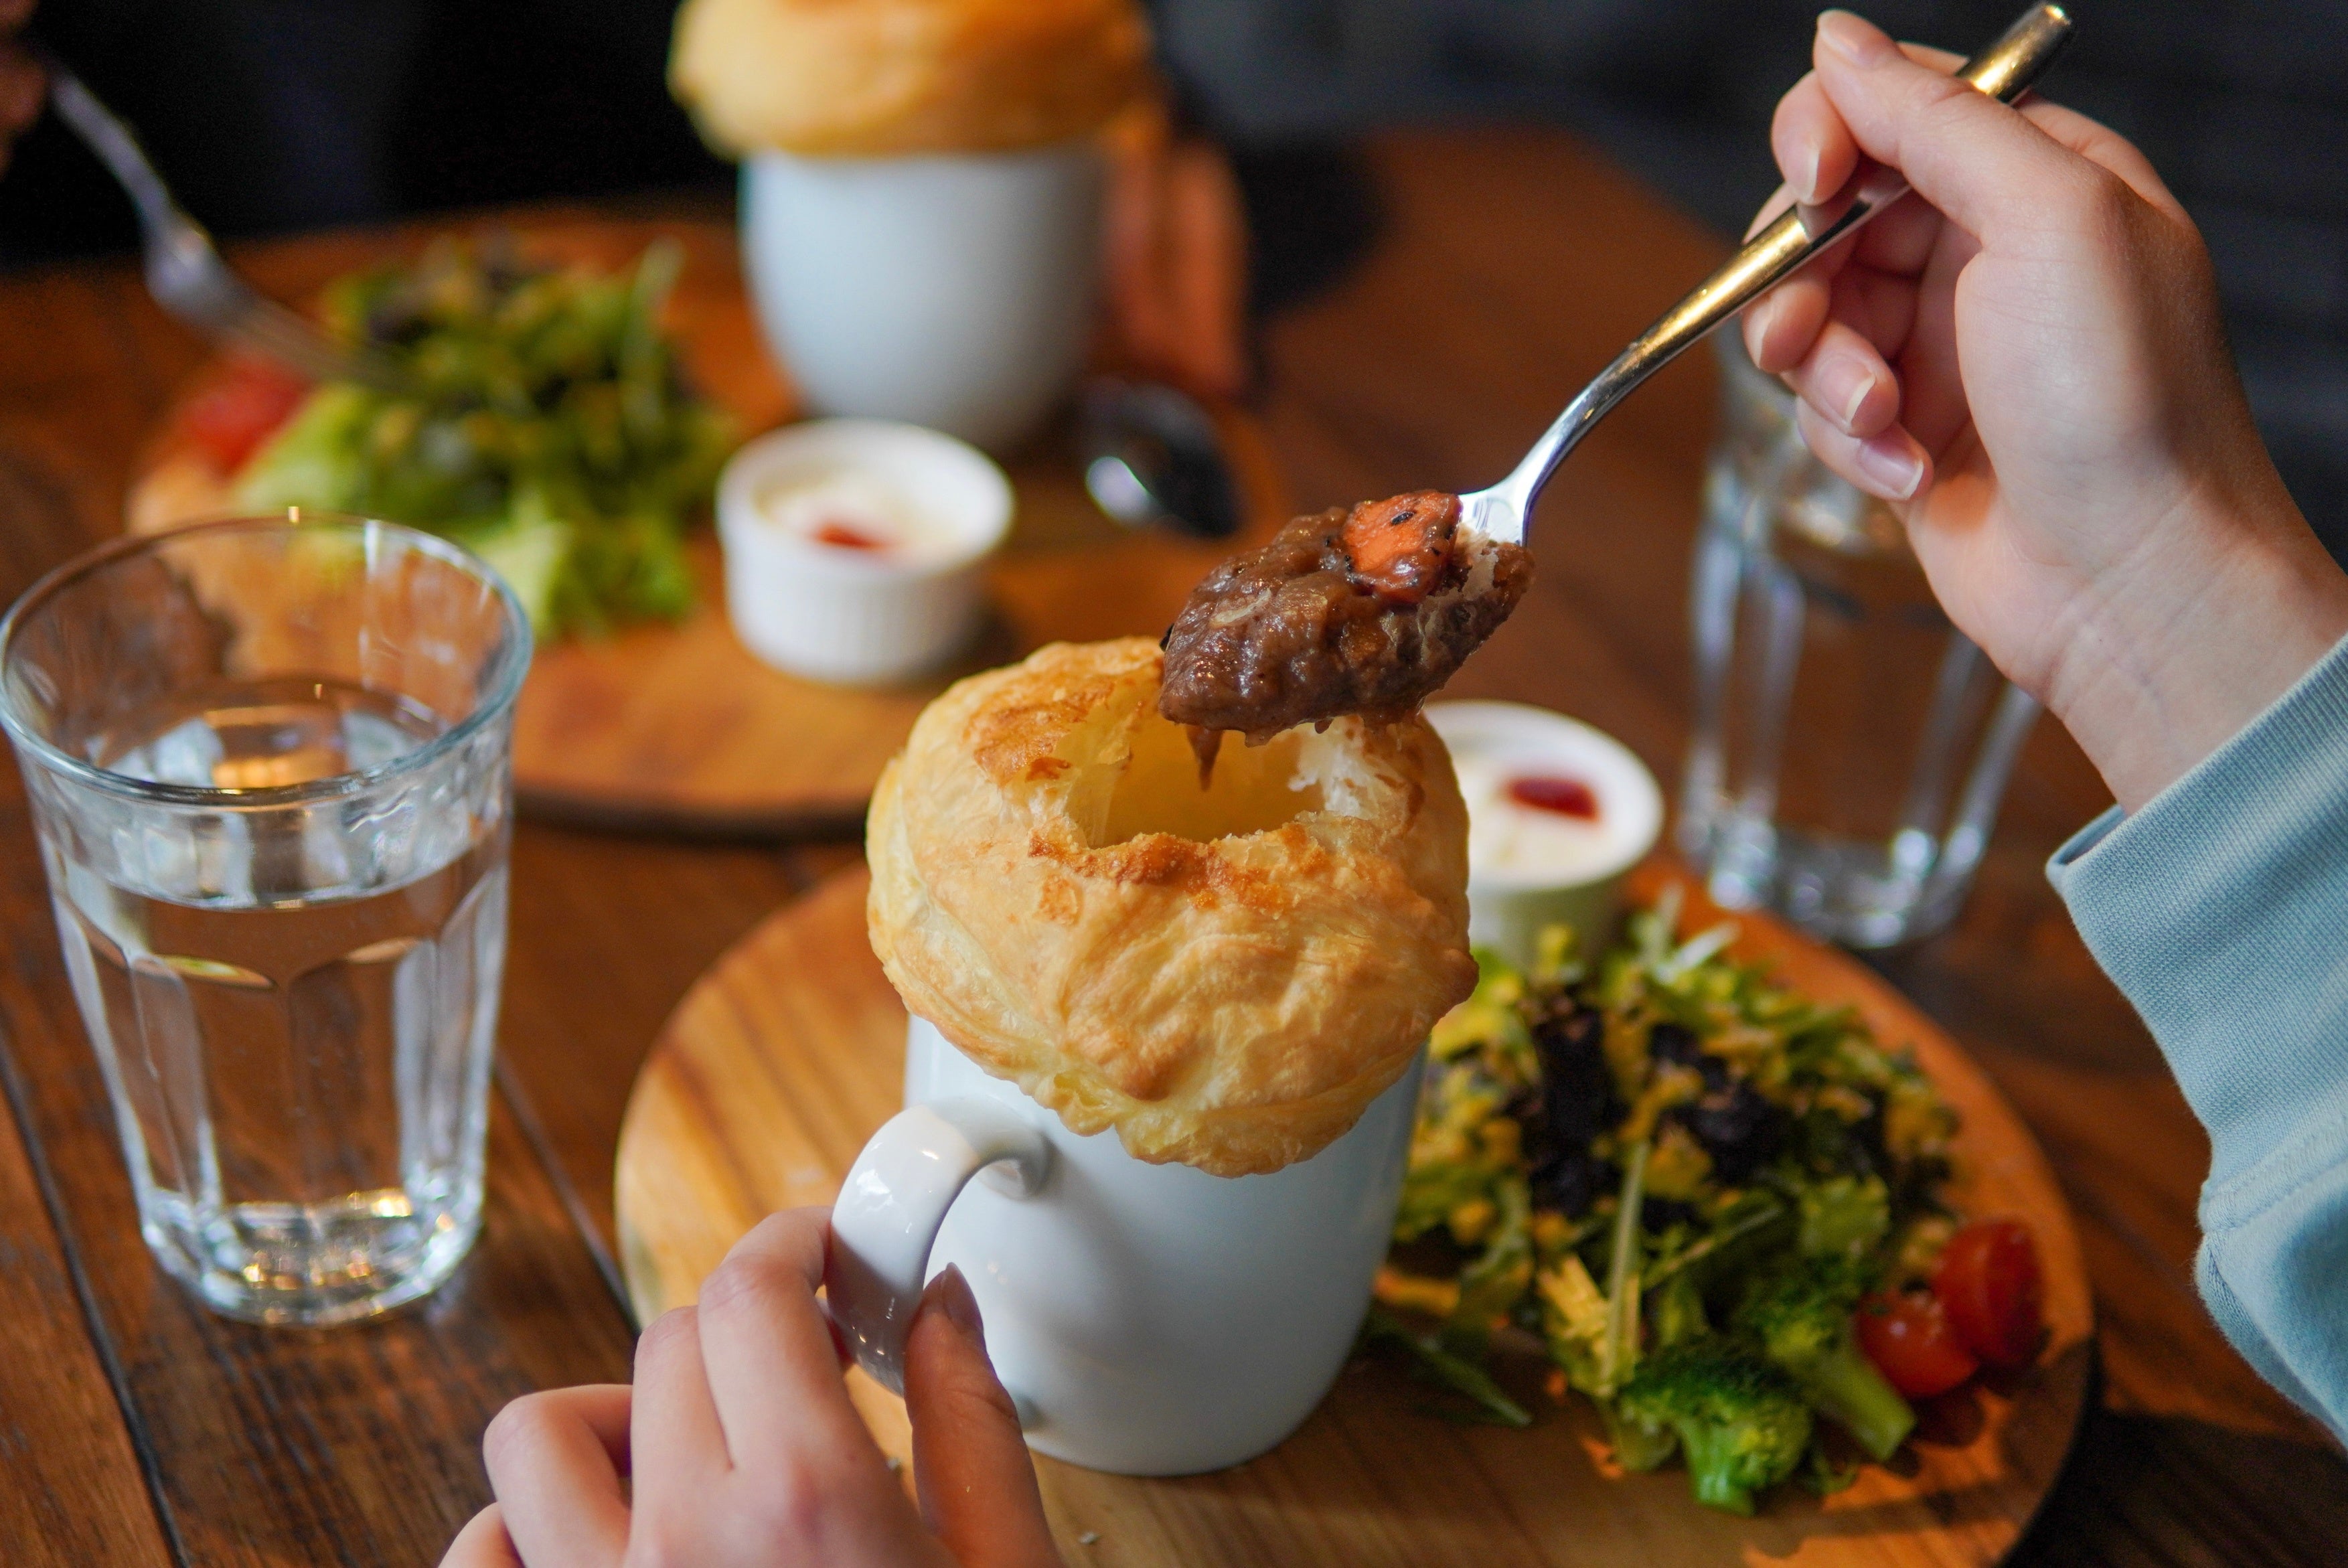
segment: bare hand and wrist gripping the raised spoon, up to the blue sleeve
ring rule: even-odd
[[[1777,106],[1789,202],[1862,155],[1914,195],[1747,312],[1810,451],[1888,500],[1949,617],[2137,807],[2341,634],[2348,580],[2282,488],[2193,221],[2144,155],[2008,108],[1848,12]]]

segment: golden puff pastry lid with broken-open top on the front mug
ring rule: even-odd
[[[1421,718],[1223,746],[1146,638],[1054,643],[913,725],[866,819],[918,1016],[1080,1134],[1216,1176],[1341,1136],[1475,988],[1468,812]]]

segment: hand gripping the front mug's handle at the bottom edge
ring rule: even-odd
[[[909,1336],[916,1514],[841,1383],[826,1246],[822,1209],[775,1214],[643,1331],[634,1390],[505,1406],[481,1439],[498,1502],[441,1568],[1057,1568],[970,1286],[939,1275]]]

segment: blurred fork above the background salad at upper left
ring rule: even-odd
[[[207,338],[265,354],[312,380],[357,380],[383,392],[409,390],[383,354],[350,350],[301,315],[254,291],[214,249],[204,225],[171,197],[127,124],[56,56],[45,56],[49,103],[129,192],[146,246],[146,282],[155,303]]]

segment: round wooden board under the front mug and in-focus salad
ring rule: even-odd
[[[1669,871],[1641,873],[1653,894]],[[864,939],[862,869],[772,915],[676,1007],[636,1080],[620,1131],[622,1268],[641,1322],[695,1298],[761,1216],[829,1204],[864,1138],[899,1108],[904,1007]],[[1691,918],[1716,913],[1691,890]],[[1500,1378],[1538,1420],[1526,1432],[1456,1427],[1383,1357],[1355,1361],[1280,1448],[1235,1469],[1143,1481],[1038,1458],[1045,1507],[1071,1563],[1348,1563],[1531,1568],[1564,1563],[1801,1563],[1958,1568],[1996,1563],[2062,1467],[2085,1406],[2092,1305],[2062,1190],[2031,1134],[1965,1054],[1850,958],[1738,915],[1735,951],[1810,995],[1850,1002],[1878,1038],[1914,1042],[1963,1115],[1956,1197],[1968,1214],[2022,1214],[2047,1265],[2043,1364],[1991,1392],[1925,1411],[1895,1469],[1869,1465],[1824,1502],[1780,1488],[1761,1519],[1698,1507],[1679,1467],[1622,1476],[1597,1418],[1557,1406],[1543,1368]],[[880,1446],[911,1455],[904,1406],[850,1373]],[[1097,1540],[1094,1540],[1097,1537]]]

